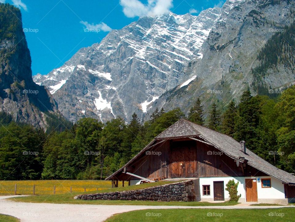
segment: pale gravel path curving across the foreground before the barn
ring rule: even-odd
[[[172,208],[207,208],[207,209],[247,209],[247,208],[281,208],[292,206],[144,206],[144,205],[91,205],[91,204],[48,204],[25,203],[6,200],[10,197],[0,196],[0,213],[15,216],[22,222],[82,222],[104,221],[115,213],[123,213],[142,209],[172,209]],[[160,205],[160,203],[159,203]],[[152,212],[152,211],[151,211]]]

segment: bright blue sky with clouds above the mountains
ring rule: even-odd
[[[60,67],[80,48],[100,42],[139,16],[198,15],[220,0],[0,0],[19,7],[32,56],[33,75]]]

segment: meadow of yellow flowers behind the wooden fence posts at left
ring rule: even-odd
[[[17,194],[33,194],[35,185],[35,195],[53,194],[55,185],[55,194],[72,192],[96,191],[112,188],[111,181],[102,180],[38,180],[38,181],[0,181],[0,195],[14,194],[14,187],[17,185]]]

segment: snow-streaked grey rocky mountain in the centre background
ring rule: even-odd
[[[61,113],[107,121],[139,117],[163,93],[187,81],[185,70],[200,49],[220,9],[190,14],[144,17],[112,30],[100,43],[80,49],[62,67],[34,76],[53,94]]]

